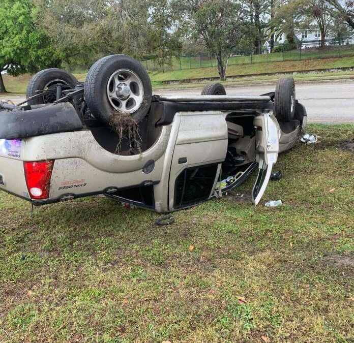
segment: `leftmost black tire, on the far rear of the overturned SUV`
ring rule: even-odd
[[[44,69],[35,74],[27,85],[26,99],[33,97],[37,94],[37,90],[44,88],[54,88],[55,84],[63,84],[63,89],[72,89],[77,84],[74,75],[59,68]],[[40,105],[52,103],[56,100],[56,93],[53,95],[39,97],[34,100],[28,101],[28,105]]]

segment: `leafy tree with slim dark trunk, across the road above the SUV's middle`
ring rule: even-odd
[[[227,61],[243,37],[240,3],[232,0],[201,0],[187,4],[191,37],[201,39],[215,55],[220,80],[225,80]]]

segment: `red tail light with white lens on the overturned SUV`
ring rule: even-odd
[[[31,199],[49,198],[50,178],[54,161],[23,162],[28,193]]]

